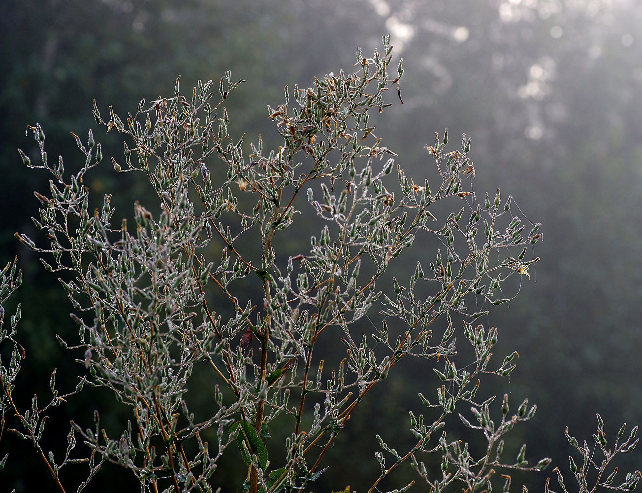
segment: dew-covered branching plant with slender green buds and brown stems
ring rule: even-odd
[[[269,151],[261,138],[247,147],[245,134],[229,134],[225,100],[243,82],[233,82],[229,72],[218,88],[198,82],[187,96],[177,80],[171,97],[143,100],[124,120],[94,103],[96,122],[125,138],[124,155],[105,161],[117,172],[143,174],[155,192],[155,203],[134,204],[133,221],[113,224],[111,195],[101,210],[90,209],[85,175],[103,161],[91,131],[86,140],[74,134],[84,161],[69,175],[62,158],[48,160],[40,125],[29,127],[41,162],[20,151],[22,160],[53,175],[48,193],[35,192],[42,206],[34,222],[50,246],[17,238],[46,254],[42,264],[69,294],[78,341],[58,339],[83,354],[83,376],[71,393],[104,387],[131,408],[119,436],[101,429],[96,412],[91,428],[72,422],[64,457],[46,453],[43,413],[66,396],[56,390],[54,372],[46,406],[37,397],[25,410],[14,402],[24,357],[15,341],[20,311],[9,329],[2,326],[0,342],[14,345],[0,370],[3,416],[12,416],[7,429],[33,442],[60,490],[70,488],[60,479],[62,467],[89,467],[87,480],[74,487],[80,491],[108,461],[133,472],[143,492],[213,491],[222,454],[247,465],[237,489],[309,490],[365,395],[385,386],[406,357],[424,360],[429,370],[418,391],[427,413],[410,413],[414,441],[404,452],[377,435],[380,473],[356,490],[379,491],[382,480],[407,465],[431,492],[490,491],[496,472],[539,471],[550,463],[530,464],[526,445],[505,458],[503,436],[532,418],[535,406],[525,400],[511,414],[507,395],[499,402],[478,398],[480,377],[508,375],[517,354],[491,357],[498,330],[478,325],[488,311],[473,309],[509,301],[501,289],[507,278],[530,276],[539,259],[529,249],[541,238],[540,225],[514,216],[510,195],[476,195],[465,135],[453,150],[447,130],[426,146],[436,183],[410,178],[395,163],[369,117],[392,104],[383,98],[391,87],[393,101],[403,103],[402,61],[394,79],[387,73],[391,50],[384,37],[382,53],[357,52],[354,72],[330,73],[312,87],[286,86],[284,102],[269,108],[282,139]],[[451,212],[435,206],[442,201]],[[306,210],[316,214],[317,233],[292,253],[295,246],[279,243],[279,235],[301,227]],[[383,276],[417,241],[439,247],[422,253],[409,278]],[[0,301],[19,284],[13,262],[3,271]],[[468,359],[456,335],[470,345]],[[323,339],[338,352],[333,368],[317,350]],[[208,415],[188,407],[196,372],[207,372],[211,382]],[[444,427],[453,413],[478,433],[482,454],[473,456]],[[275,423],[290,426],[281,443],[270,438]],[[635,431],[625,449],[614,451],[630,451]],[[600,429],[596,436],[606,452]],[[582,471],[596,465],[589,449],[571,445],[584,455]],[[584,472],[573,472],[580,490],[589,491]],[[632,489],[639,477],[629,474],[618,489]],[[508,491],[510,476],[500,480]],[[612,483],[612,475],[600,472],[597,483],[611,485],[604,481]]]

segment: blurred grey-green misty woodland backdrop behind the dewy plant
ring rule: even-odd
[[[377,120],[377,132],[397,151],[397,162],[421,183],[430,166],[424,144],[434,132],[448,127],[455,143],[466,132],[473,137],[476,190],[512,193],[523,214],[543,224],[544,241],[534,251],[541,262],[530,281],[523,278],[519,296],[483,321],[500,328],[498,354],[521,356],[510,381],[491,382],[490,390],[509,392],[514,406],[526,396],[539,406],[535,419],[516,429],[516,440],[528,443],[532,462],[551,456],[566,471],[564,427],[581,443],[594,433],[596,412],[607,438],[622,422],[642,424],[636,1],[4,0],[0,13],[0,263],[19,255],[23,270],[13,300],[22,303],[19,340],[28,353],[17,382],[22,406],[34,391],[48,395],[54,367],[58,387],[73,386],[65,371],[76,375],[71,359],[82,357],[69,357],[54,337],[73,340],[75,330],[60,285],[13,237],[15,231],[39,237],[30,220],[39,202],[31,192],[48,188],[49,177],[27,170],[17,154],[17,147],[37,152],[26,124],[42,124],[49,159],[62,154],[67,166],[79,156],[70,131],[85,138],[93,128],[104,154],[119,156],[118,136],[105,136],[92,118],[94,98],[123,116],[143,97],[171,93],[178,75],[189,92],[196,80],[220,80],[230,69],[234,80],[247,80],[230,96],[230,133],[247,132],[246,142],[261,133],[269,148],[279,141],[266,105],[281,102],[285,84],[307,87],[313,76],[351,71],[358,46],[368,56],[381,35],[392,33],[395,60],[404,58],[404,105],[391,92],[395,105]],[[94,198],[114,193],[117,215],[131,215],[134,200],[148,191],[144,177],[118,175],[108,162],[87,177]],[[407,262],[412,269],[417,257]],[[432,395],[437,386],[417,375],[408,366],[351,420],[329,457],[333,480],[315,483],[315,491],[372,483],[371,430],[405,425],[408,409],[418,407],[417,388]],[[106,397],[88,391],[51,413],[45,447],[64,447],[72,417],[91,426],[94,408],[105,426],[128,418]],[[7,452],[0,490],[55,491],[35,451],[5,431],[0,458]],[[621,471],[641,463],[640,451],[619,462]],[[93,491],[121,483],[136,490],[125,471],[109,471]],[[519,480],[541,490],[547,475]],[[218,480],[223,490],[238,489],[231,472]]]

